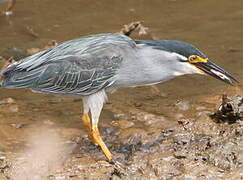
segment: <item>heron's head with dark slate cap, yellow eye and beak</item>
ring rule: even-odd
[[[211,62],[199,49],[186,42],[177,40],[136,40],[135,42],[162,50],[167,54],[164,58],[173,62],[163,61],[162,65],[168,65],[166,68],[173,71],[175,76],[199,73],[208,74],[230,85],[238,82],[230,73]]]

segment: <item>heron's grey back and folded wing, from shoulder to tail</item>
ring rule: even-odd
[[[135,42],[123,35],[98,34],[59,44],[2,71],[7,88],[89,95],[110,86]]]

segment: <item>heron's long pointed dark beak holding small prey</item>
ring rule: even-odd
[[[230,73],[209,60],[207,60],[207,62],[194,63],[194,65],[206,74],[209,74],[221,81],[224,81],[227,84],[235,85],[235,83],[239,83],[239,81],[235,79]]]

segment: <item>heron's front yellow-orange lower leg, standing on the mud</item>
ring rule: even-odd
[[[101,139],[100,132],[99,132],[99,129],[98,129],[97,125],[92,125],[91,135],[92,135],[92,139],[94,140],[94,142],[97,145],[100,146],[101,150],[105,154],[105,156],[108,159],[108,161],[111,162],[111,160],[112,160],[112,154],[109,151],[109,149],[107,148],[107,146],[105,145],[104,141]]]

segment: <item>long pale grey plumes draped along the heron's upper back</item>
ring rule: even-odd
[[[97,34],[63,42],[53,48],[29,56],[13,66],[15,70],[32,70],[43,63],[53,60],[63,60],[64,56],[75,55],[80,57],[126,55],[135,49],[135,42],[127,36],[119,34]],[[83,59],[83,58],[82,58]],[[11,68],[7,69],[11,70]],[[2,72],[6,74],[5,71]]]

